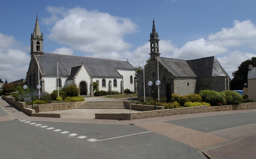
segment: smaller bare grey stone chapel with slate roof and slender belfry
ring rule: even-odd
[[[229,75],[215,56],[194,60],[160,57],[159,38],[154,22],[149,40],[150,62],[144,68],[145,96],[154,96],[154,91],[150,89],[148,82],[158,79],[161,82],[159,85],[160,97],[166,96],[167,82],[171,83],[172,93],[179,95],[194,94],[205,89],[218,92],[229,90]],[[139,74],[137,82],[138,97],[144,96],[143,71]]]

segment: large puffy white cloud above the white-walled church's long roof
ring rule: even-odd
[[[129,18],[79,7],[69,9],[66,14],[54,24],[48,36],[50,40],[85,53],[120,52],[132,46],[123,38],[137,29]]]

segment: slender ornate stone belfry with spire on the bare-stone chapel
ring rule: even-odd
[[[153,28],[152,33],[150,33],[150,60],[155,60],[156,57],[160,57],[159,53],[159,39],[158,33],[156,32],[155,28],[155,21],[153,19]]]

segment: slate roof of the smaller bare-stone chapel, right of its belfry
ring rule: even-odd
[[[160,57],[158,61],[175,77],[229,76],[214,56],[186,61]]]

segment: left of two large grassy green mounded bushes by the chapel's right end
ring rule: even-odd
[[[203,102],[210,103],[211,105],[218,105],[218,103],[225,103],[225,94],[213,90],[201,90],[198,93],[202,97]]]

